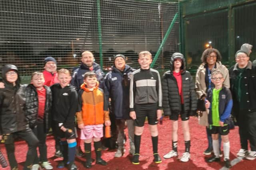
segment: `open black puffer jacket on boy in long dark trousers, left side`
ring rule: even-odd
[[[44,107],[44,131],[47,133],[50,129],[51,109],[52,109],[52,92],[50,87],[44,86],[46,89],[46,100]],[[37,125],[38,117],[38,94],[36,88],[32,84],[24,85],[20,88],[22,97],[26,100],[26,118],[30,128]]]

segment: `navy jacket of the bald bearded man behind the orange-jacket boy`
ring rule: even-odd
[[[93,67],[92,71],[97,74],[97,80],[98,80],[98,82],[100,82],[100,88],[102,88],[102,81],[103,81],[105,74],[102,71],[99,64],[93,63],[92,67]],[[77,91],[80,90],[80,86],[84,83],[83,75],[89,71],[91,71],[90,68],[88,66],[86,66],[86,64],[84,64],[84,63],[81,63],[81,65],[78,66],[78,68],[74,69],[73,74],[72,74],[72,80],[71,80],[70,84],[72,84],[76,88]]]

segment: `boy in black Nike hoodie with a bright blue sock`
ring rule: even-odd
[[[69,170],[76,170],[74,158],[76,153],[75,114],[78,107],[78,95],[70,86],[70,72],[67,69],[58,71],[60,83],[51,86],[52,113],[56,121],[56,134],[60,138],[64,160],[59,162],[58,168],[68,165]]]

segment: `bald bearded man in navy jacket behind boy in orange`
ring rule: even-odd
[[[100,65],[94,62],[94,56],[92,52],[82,52],[81,61],[81,65],[73,71],[71,84],[75,86],[76,90],[79,90],[81,84],[84,83],[84,73],[88,71],[93,71],[97,74],[97,80],[100,82],[100,88],[102,88],[102,80],[105,74],[100,68]]]

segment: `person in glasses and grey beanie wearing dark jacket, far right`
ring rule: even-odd
[[[238,121],[241,149],[237,156],[256,158],[256,66],[244,50],[235,55],[236,64],[229,70],[230,90],[234,101],[233,114]],[[251,151],[248,152],[248,141]]]

